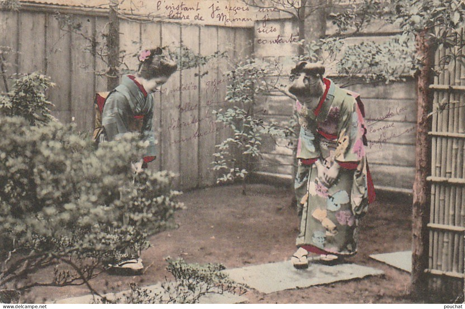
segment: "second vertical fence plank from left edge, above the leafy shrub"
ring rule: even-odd
[[[21,12],[18,72],[45,72],[45,14]]]

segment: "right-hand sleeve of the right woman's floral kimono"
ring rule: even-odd
[[[347,95],[343,102],[338,128],[338,146],[334,158],[341,167],[356,169],[360,161],[365,159],[365,125],[359,105],[350,95]]]

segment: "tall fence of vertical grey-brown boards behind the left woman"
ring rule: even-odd
[[[66,13],[68,15],[63,15]],[[60,26],[57,14],[71,19]],[[0,12],[0,46],[9,46],[9,73],[42,72],[56,86],[49,92],[55,105],[53,115],[62,122],[75,122],[78,129],[93,129],[93,96],[106,90],[106,77],[97,74],[105,62],[91,53],[92,39],[103,40],[108,17],[79,9],[66,12],[22,9]],[[71,29],[70,27],[77,28]],[[74,31],[71,31],[74,30]],[[136,68],[130,56],[141,47],[181,43],[202,55],[226,52],[228,58],[212,61],[202,68],[176,72],[155,94],[154,129],[159,141],[159,156],[153,168],[178,173],[181,189],[212,185],[210,171],[215,145],[226,138],[227,130],[215,123],[213,109],[225,106],[226,82],[223,72],[233,59],[252,53],[252,30],[240,27],[198,26],[170,22],[120,20],[120,50],[126,64]],[[91,39],[91,40],[89,40]],[[200,77],[199,73],[203,73]],[[1,85],[3,89],[3,85]]]

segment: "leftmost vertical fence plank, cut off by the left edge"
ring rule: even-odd
[[[12,76],[17,73],[16,55],[18,51],[18,13],[2,11],[0,14],[0,32],[8,35],[0,36],[0,46],[5,47],[3,54],[5,74]],[[8,88],[11,88],[11,80],[7,81]],[[9,90],[9,89],[8,89]],[[0,92],[5,92],[3,78],[0,80]]]

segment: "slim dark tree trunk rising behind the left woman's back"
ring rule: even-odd
[[[112,91],[119,85],[120,66],[120,19],[118,18],[118,0],[111,0],[110,14],[108,15],[108,36],[106,46],[108,48],[108,73],[107,90]]]

